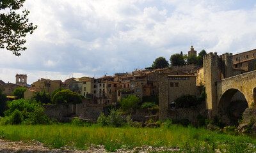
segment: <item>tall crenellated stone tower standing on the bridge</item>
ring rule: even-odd
[[[217,81],[232,77],[232,54],[217,55],[209,53],[204,56],[204,84],[206,92],[206,110],[208,117],[218,115]]]

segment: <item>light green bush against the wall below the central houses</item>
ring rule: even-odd
[[[135,109],[139,103],[140,103],[140,98],[134,96],[134,95],[129,95],[127,98],[122,98],[121,101],[119,101],[122,110],[130,110],[130,109]]]

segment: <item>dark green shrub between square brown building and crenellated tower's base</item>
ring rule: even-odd
[[[197,99],[195,95],[185,94],[175,99],[178,108],[190,108],[197,105]]]

